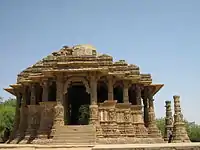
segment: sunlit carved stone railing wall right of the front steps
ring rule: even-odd
[[[99,105],[99,121],[104,137],[147,136],[141,105],[105,101]]]

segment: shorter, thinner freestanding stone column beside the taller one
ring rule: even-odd
[[[172,109],[171,101],[165,101],[166,107],[166,116],[165,116],[165,133],[164,140],[169,140],[169,131],[173,129],[173,118],[172,118]]]

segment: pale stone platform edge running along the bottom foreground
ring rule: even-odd
[[[105,144],[105,145],[34,145],[0,144],[6,150],[200,150],[200,143]]]

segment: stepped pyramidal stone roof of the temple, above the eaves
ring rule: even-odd
[[[113,57],[100,54],[92,45],[63,46],[31,67],[23,70],[17,78],[17,83],[31,80],[32,77],[42,76],[47,72],[90,72],[99,71],[114,75],[118,78],[138,80],[141,83],[151,84],[150,74],[141,74],[139,67],[128,64],[125,60],[114,62]]]

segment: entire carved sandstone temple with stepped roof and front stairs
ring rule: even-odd
[[[91,45],[64,46],[5,88],[17,97],[8,143],[162,143],[153,99],[162,87]]]

